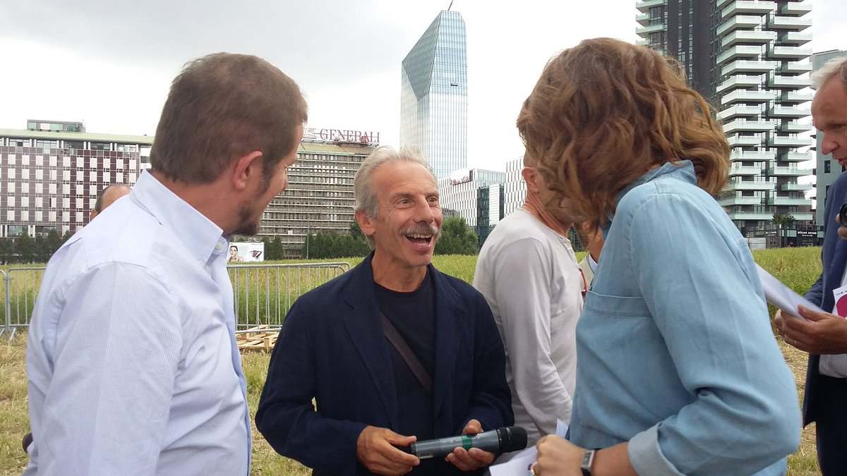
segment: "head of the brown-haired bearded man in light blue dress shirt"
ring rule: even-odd
[[[255,235],[264,209],[285,190],[306,120],[300,88],[273,64],[209,54],[174,79],[150,172],[224,235]]]

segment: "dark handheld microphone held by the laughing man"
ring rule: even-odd
[[[492,453],[523,450],[523,448],[527,447],[527,430],[519,426],[504,426],[479,434],[462,434],[461,436],[451,436],[437,440],[418,441],[412,443],[412,446],[404,448],[404,450],[420,459],[426,459],[446,457],[457,447],[462,447],[466,450],[479,448],[482,451],[490,451]]]

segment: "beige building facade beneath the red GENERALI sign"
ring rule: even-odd
[[[355,221],[353,178],[374,148],[374,133],[366,139],[323,141],[304,139],[297,160],[288,169],[288,185],[265,209],[259,235],[279,236],[286,257],[300,257],[307,235],[347,233]],[[338,137],[335,137],[338,139]]]

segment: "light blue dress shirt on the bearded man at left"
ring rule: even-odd
[[[145,172],[53,255],[26,351],[25,474],[249,473],[227,248]]]

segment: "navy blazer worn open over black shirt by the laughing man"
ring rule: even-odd
[[[394,369],[371,257],[298,299],[285,318],[256,412],[274,450],[315,475],[370,474],[357,461],[367,425],[396,429]],[[436,437],[513,424],[506,357],[484,297],[431,264],[435,284]],[[312,406],[314,398],[317,410]]]

